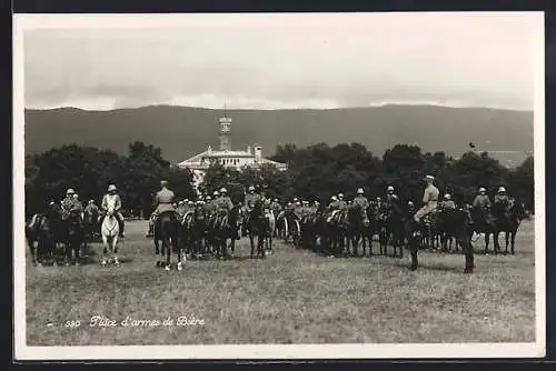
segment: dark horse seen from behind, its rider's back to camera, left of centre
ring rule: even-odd
[[[167,271],[171,270],[171,253],[172,251],[177,252],[178,261],[177,269],[178,271],[182,270],[182,261],[181,261],[181,250],[178,245],[178,219],[176,215],[176,211],[169,210],[161,212],[157,221],[155,222],[155,241],[160,239],[162,241],[162,251],[163,255],[166,252],[166,263],[163,261],[157,261],[157,267],[165,265]],[[157,244],[157,242],[155,242]]]

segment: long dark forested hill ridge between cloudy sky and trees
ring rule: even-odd
[[[470,141],[489,151],[533,151],[533,112],[437,106],[385,106],[334,110],[230,110],[232,147],[259,143],[271,156],[277,144],[306,147],[359,142],[381,156],[396,143],[458,154]],[[26,110],[26,153],[77,143],[125,154],[139,140],[182,161],[218,146],[221,110],[151,106],[112,111],[75,108]]]

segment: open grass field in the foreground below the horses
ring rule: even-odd
[[[407,253],[335,259],[277,241],[275,254],[250,260],[245,239],[234,261],[167,272],[146,228],[127,223],[119,267],[100,268],[98,245],[81,267],[36,268],[28,257],[28,345],[535,341],[533,221],[515,255],[477,254],[474,274],[459,254],[423,252],[411,272]],[[117,325],[90,327],[93,315]],[[122,325],[127,317],[160,325]]]

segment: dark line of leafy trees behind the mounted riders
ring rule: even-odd
[[[417,146],[397,144],[377,157],[363,144],[307,148],[278,146],[271,160],[284,162],[287,171],[270,164],[241,171],[220,164],[209,167],[200,190],[212,193],[227,187],[234,202],[241,202],[248,186],[259,186],[270,198],[282,202],[298,197],[327,202],[342,192],[353,198],[358,188],[367,197],[384,195],[393,186],[404,201],[420,201],[424,177],[433,174],[440,192],[450,193],[456,203],[470,203],[479,187],[494,195],[498,187],[534,209],[534,159],[507,169],[486,152],[467,152],[458,159],[444,152],[423,152]],[[129,144],[127,156],[110,150],[79,147],[54,148],[26,158],[26,210],[37,212],[50,200],[60,200],[67,188],[75,188],[81,201],[100,201],[108,184],[116,183],[125,208],[135,213],[152,211],[159,181],[168,179],[180,199],[195,199],[192,173],[171,167],[159,148],[142,142]]]

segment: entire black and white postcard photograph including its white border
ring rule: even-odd
[[[17,360],[545,355],[544,14],[16,14]]]

